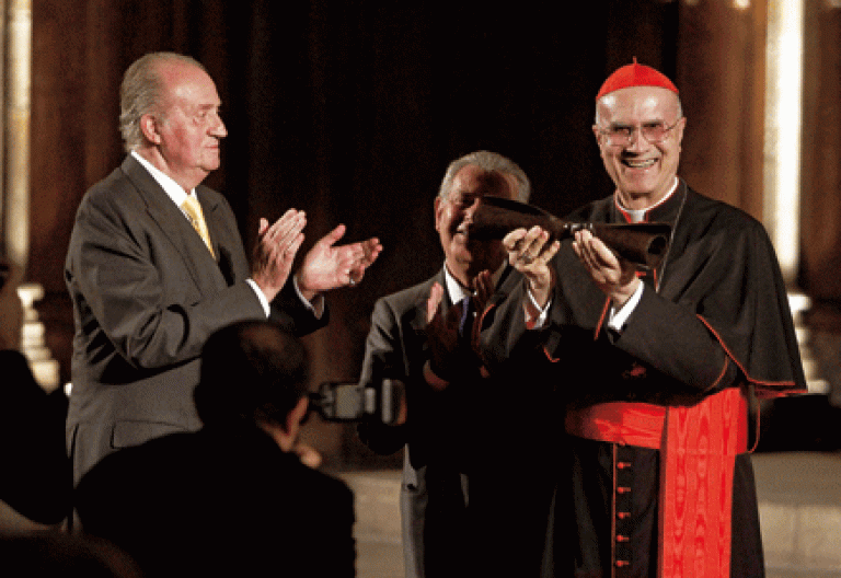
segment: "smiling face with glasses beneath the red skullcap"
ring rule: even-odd
[[[680,143],[687,119],[680,117],[678,96],[658,86],[632,86],[604,95],[597,104],[599,125],[594,132],[604,167],[619,198],[629,209],[645,209],[663,199],[675,184]],[[648,142],[634,130],[624,146],[613,146],[601,129],[675,125],[663,142]]]

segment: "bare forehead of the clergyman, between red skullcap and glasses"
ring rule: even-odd
[[[680,116],[678,95],[659,86],[631,86],[606,94],[597,104],[603,123],[635,124],[664,122]]]

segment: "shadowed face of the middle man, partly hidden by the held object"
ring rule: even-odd
[[[468,239],[468,224],[485,196],[516,199],[517,180],[469,164],[456,173],[448,195],[435,199],[435,230],[441,240],[447,268],[464,287],[471,287],[483,270],[498,269],[506,256],[502,241]]]

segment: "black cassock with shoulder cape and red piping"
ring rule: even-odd
[[[624,222],[626,217],[611,196],[566,219]],[[677,477],[668,477],[664,461],[670,455],[675,463],[677,455],[667,448],[689,448],[691,453],[698,446],[705,451],[716,440],[735,439],[737,429],[744,435],[746,404],[756,395],[805,391],[780,267],[756,219],[682,181],[644,220],[672,224],[672,235],[657,270],[645,275],[642,299],[621,332],[606,327],[606,297],[566,242],[554,262],[557,286],[548,326],[527,330],[521,305],[527,297],[520,287],[488,316],[482,334],[488,368],[529,367],[534,379],[556,392],[557,485],[545,575],[653,577],[666,559],[670,576],[762,576],[756,489],[746,451],[754,440],[741,440],[729,465],[707,455],[683,464],[690,471]],[[735,405],[707,409],[723,397]],[[565,419],[575,421],[580,412],[603,404],[664,411],[663,444],[652,449],[610,437],[586,439],[575,427],[569,434]],[[678,441],[677,435],[687,439]],[[677,481],[677,506],[660,499],[667,478],[672,486]],[[708,485],[694,486],[699,479]],[[731,499],[731,507],[722,501],[727,510],[721,522],[726,525],[724,547],[714,553],[721,559],[703,550],[694,554],[692,547],[690,555],[671,552],[686,529],[710,523],[707,490]],[[664,532],[669,534],[666,542]],[[668,556],[664,547],[671,552]]]

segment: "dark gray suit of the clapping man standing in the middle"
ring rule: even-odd
[[[539,563],[550,497],[544,473],[533,461],[520,460],[539,446],[529,425],[533,400],[518,395],[510,375],[482,378],[479,367],[445,392],[430,390],[423,378],[429,358],[426,300],[436,281],[446,288],[443,270],[375,304],[360,381],[403,381],[408,414],[403,426],[365,423],[359,434],[378,453],[405,448],[401,513],[406,578],[527,576],[523,568]],[[520,282],[521,276],[509,271],[491,303]],[[445,289],[441,307],[451,305]],[[461,483],[465,509],[441,495],[441,479]],[[436,504],[439,523],[431,530]]]

